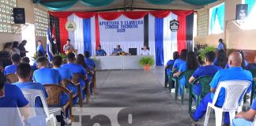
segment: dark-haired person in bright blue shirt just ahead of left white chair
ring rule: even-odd
[[[34,72],[33,81],[42,84],[59,84],[60,76],[56,69],[48,68],[48,60],[46,57],[38,57],[36,59],[37,70]]]

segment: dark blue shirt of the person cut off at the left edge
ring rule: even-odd
[[[24,107],[28,105],[28,100],[24,97],[21,89],[13,84],[5,84],[5,96],[12,98],[17,102],[18,107]]]

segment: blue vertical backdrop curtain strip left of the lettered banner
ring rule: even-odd
[[[84,52],[88,51],[90,54],[92,54],[92,42],[91,42],[91,20],[90,19],[84,19]]]

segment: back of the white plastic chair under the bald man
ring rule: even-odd
[[[215,95],[213,98],[213,105],[215,105],[217,98],[220,94],[220,89],[225,90],[225,100],[222,109],[224,111],[237,110],[239,108],[239,100],[243,101],[243,96],[246,93],[250,81],[247,80],[227,80],[221,81],[216,88]],[[242,98],[241,98],[242,97]]]

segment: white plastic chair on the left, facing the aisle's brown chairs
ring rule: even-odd
[[[32,108],[32,116],[37,116],[36,114],[36,107],[35,107],[35,101],[36,97],[40,97],[41,102],[43,104],[43,110],[46,114],[46,122],[50,121],[52,126],[56,126],[56,120],[54,114],[50,114],[46,99],[44,98],[43,91],[36,90],[36,89],[21,89],[22,93],[24,94],[24,97],[27,98],[29,101],[29,106]]]

